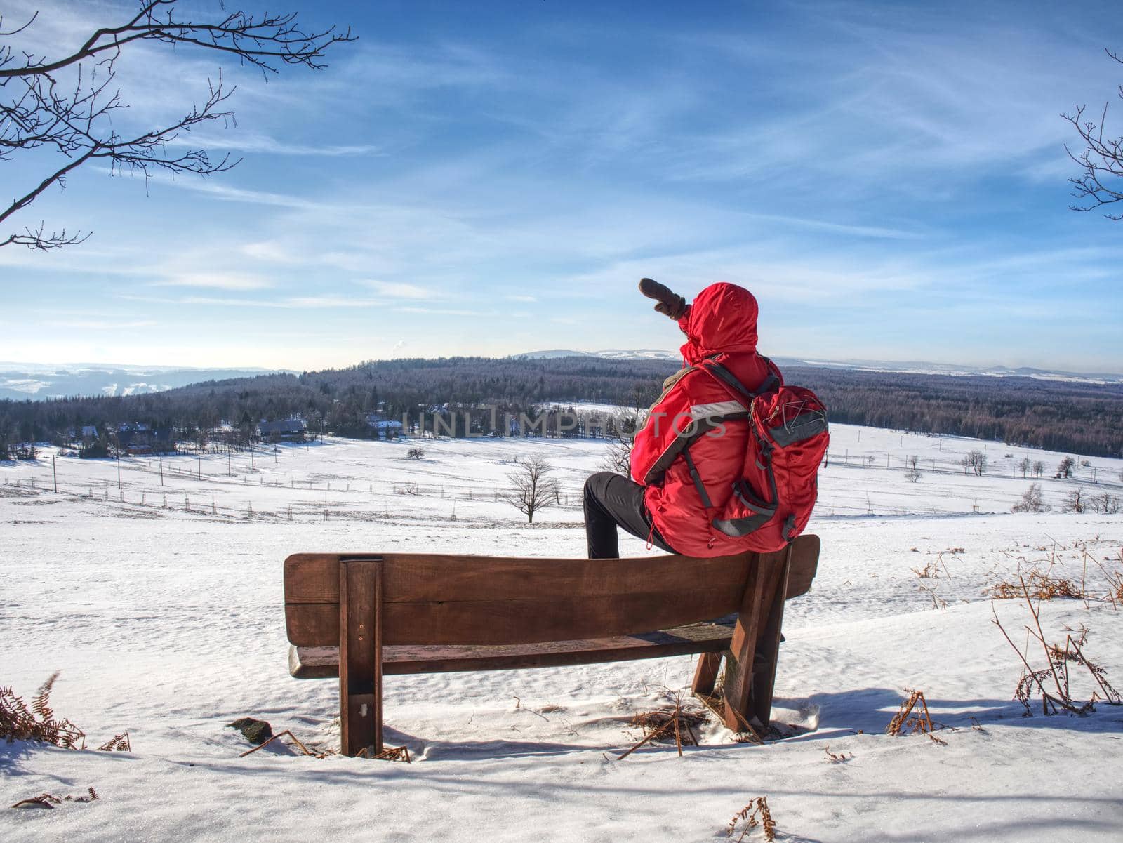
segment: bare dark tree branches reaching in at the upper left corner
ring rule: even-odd
[[[192,19],[176,8],[180,0],[141,0],[140,9],[118,26],[94,30],[80,46],[61,56],[17,52],[11,42],[0,40],[0,162],[20,163],[20,174],[40,167],[20,193],[4,208],[0,223],[8,225],[54,185],[66,186],[66,177],[89,162],[102,162],[112,174],[153,171],[211,175],[230,169],[238,161],[229,155],[211,159],[203,149],[168,150],[183,132],[213,121],[234,120],[227,100],[235,88],[226,86],[222,71],[208,80],[202,106],[191,109],[173,123],[143,131],[120,134],[115,117],[127,108],[115,83],[115,64],[122,51],[137,42],[170,44],[212,51],[241,64],[276,73],[280,63],[320,70],[325,52],[339,42],[355,40],[350,30],[335,27],[305,30],[296,15],[265,12],[257,17],[244,11],[213,19]],[[0,17],[0,39],[34,28],[39,12],[21,26],[6,30]],[[56,249],[82,242],[90,232],[49,230],[44,221],[25,223],[22,232],[0,239],[0,247],[18,245],[29,249]],[[0,237],[3,237],[0,233]]]

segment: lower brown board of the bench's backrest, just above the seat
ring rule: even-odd
[[[530,644],[660,630],[720,617],[739,605],[740,594],[728,586],[674,595],[384,603],[382,634],[384,644]],[[285,606],[285,618],[291,643],[314,647],[339,641],[336,604],[291,604]]]

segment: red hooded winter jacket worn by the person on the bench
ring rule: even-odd
[[[757,300],[734,284],[711,284],[678,320],[686,333],[684,368],[666,381],[663,395],[636,434],[631,452],[632,479],[647,486],[643,501],[659,534],[686,556],[739,553],[743,542],[711,526],[740,478],[749,427],[743,418],[711,428],[703,419],[743,411],[712,375],[694,368],[714,357],[749,390],[757,390],[779,370],[757,354]],[[684,456],[690,445],[688,457]],[[690,461],[710,497],[702,503]]]

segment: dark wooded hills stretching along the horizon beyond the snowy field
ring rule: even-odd
[[[371,438],[372,413],[417,423],[444,405],[491,405],[529,418],[544,402],[647,406],[673,372],[665,360],[593,357],[399,359],[124,397],[0,401],[0,456],[18,442],[62,442],[83,425],[104,436],[141,422],[202,443],[223,425],[248,436],[258,421],[299,416],[311,431]],[[786,367],[784,376],[819,393],[834,422],[1123,456],[1119,385],[819,367]],[[508,431],[496,425],[495,432]]]

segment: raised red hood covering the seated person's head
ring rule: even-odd
[[[678,327],[687,340],[679,350],[687,365],[715,354],[757,350],[757,300],[736,284],[711,284],[694,299]]]

